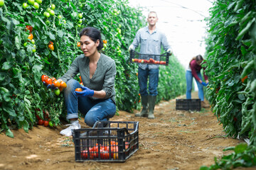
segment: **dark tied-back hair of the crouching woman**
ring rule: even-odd
[[[93,27],[83,28],[79,34],[80,38],[82,37],[82,35],[88,36],[94,42],[97,42],[97,40],[100,40],[100,45],[97,46],[97,50],[102,50],[103,42],[101,39],[100,30],[98,30],[97,28],[93,28]]]

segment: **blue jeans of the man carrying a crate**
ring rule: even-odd
[[[149,77],[149,92],[147,91],[147,81]],[[141,96],[156,96],[159,81],[159,69],[141,69],[138,70],[139,94]]]

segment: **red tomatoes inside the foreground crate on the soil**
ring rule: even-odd
[[[125,142],[125,149],[129,148],[129,142]],[[100,152],[99,152],[100,149]],[[111,151],[111,152],[110,152]],[[111,141],[109,145],[98,145],[94,147],[89,147],[89,149],[82,150],[82,159],[118,159],[118,142]]]

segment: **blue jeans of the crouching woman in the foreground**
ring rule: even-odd
[[[85,123],[92,127],[97,120],[108,120],[114,117],[116,106],[111,98],[92,100],[87,96],[78,97],[75,89],[80,87],[78,81],[70,79],[64,90],[65,106],[68,110],[67,119],[78,118],[78,110],[85,115]]]

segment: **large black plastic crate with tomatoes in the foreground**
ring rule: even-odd
[[[139,122],[98,121],[73,130],[76,162],[125,162],[139,149]]]

